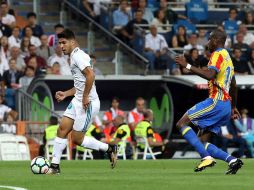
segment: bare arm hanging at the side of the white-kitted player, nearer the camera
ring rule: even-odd
[[[92,86],[93,86],[93,83],[94,83],[94,72],[93,72],[93,69],[91,67],[86,67],[82,73],[85,75],[86,77],[86,83],[85,83],[85,89],[84,89],[84,93],[83,93],[83,100],[82,100],[82,103],[83,103],[83,107],[85,109],[88,108],[89,106],[89,99],[88,99],[88,96],[89,96],[89,93],[92,89]]]

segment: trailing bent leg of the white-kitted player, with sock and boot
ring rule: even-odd
[[[83,132],[72,131],[73,142],[77,145],[83,146],[85,148],[103,151],[108,154],[111,162],[111,168],[113,169],[117,162],[117,145],[108,145],[93,137],[85,136]]]

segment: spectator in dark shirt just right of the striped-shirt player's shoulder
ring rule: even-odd
[[[239,48],[233,50],[232,61],[235,69],[235,74],[247,75],[249,67],[246,60],[241,59],[242,51]]]

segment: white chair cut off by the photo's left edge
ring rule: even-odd
[[[15,135],[0,135],[0,160],[21,160],[19,145]]]

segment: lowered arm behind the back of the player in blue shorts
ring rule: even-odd
[[[237,86],[235,76],[232,77],[229,89],[229,95],[231,96],[231,107],[232,107],[232,119],[239,119],[240,113],[236,108],[236,101],[237,101]]]

